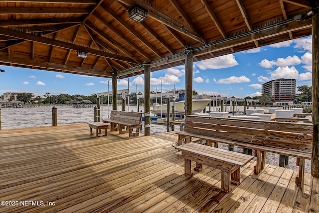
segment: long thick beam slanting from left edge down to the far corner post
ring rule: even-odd
[[[0,34],[8,35],[8,36],[16,37],[16,38],[21,38],[21,39],[25,39],[29,41],[35,41],[42,44],[52,45],[52,46],[61,47],[65,49],[83,50],[83,51],[89,52],[92,55],[103,56],[107,58],[112,58],[114,60],[127,61],[133,64],[136,64],[134,60],[124,56],[103,52],[100,50],[90,49],[84,46],[75,45],[75,44],[71,44],[71,43],[67,43],[63,41],[57,41],[51,38],[45,38],[45,37],[41,37],[41,36],[37,36],[37,35],[25,33],[25,32],[19,32],[16,30],[6,29],[3,27],[0,27]]]

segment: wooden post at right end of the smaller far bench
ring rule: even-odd
[[[151,135],[151,65],[144,66],[144,135]]]

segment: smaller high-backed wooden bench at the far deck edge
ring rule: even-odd
[[[129,132],[129,137],[140,134],[142,126],[142,113],[133,111],[111,111],[109,119],[103,119],[104,123],[111,123],[111,131],[120,131],[120,134]],[[135,129],[135,131],[134,131]]]

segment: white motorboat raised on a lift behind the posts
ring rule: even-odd
[[[179,98],[174,104],[175,115],[184,115],[185,114],[185,94],[179,93]],[[211,102],[211,99],[193,99],[192,100],[192,113],[202,112],[206,106]],[[153,106],[152,112],[156,116],[166,115],[167,114],[167,105],[155,105]],[[172,112],[171,106],[169,107],[169,113]]]

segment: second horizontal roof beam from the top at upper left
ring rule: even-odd
[[[66,8],[66,7],[0,7],[0,14],[88,14],[87,8]]]

